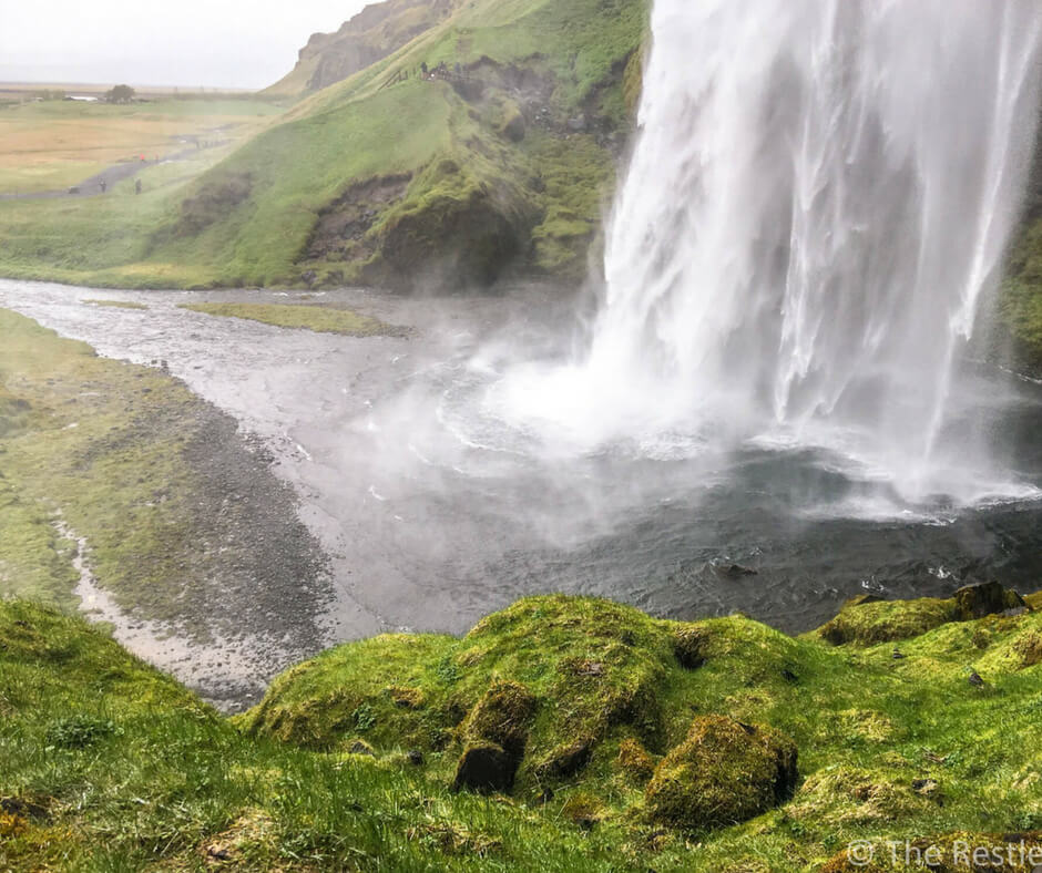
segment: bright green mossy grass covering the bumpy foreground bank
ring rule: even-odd
[[[2,604],[0,865],[737,873],[850,870],[851,840],[1038,845],[1042,616],[892,648],[534,597],[462,638],[340,646],[222,719],[78,619]],[[509,795],[453,791],[476,743],[513,756]],[[727,767],[791,743],[797,785],[714,818],[749,784]],[[688,759],[719,797],[701,824],[706,794],[670,782]]]

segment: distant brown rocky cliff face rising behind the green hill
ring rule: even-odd
[[[382,60],[445,20],[460,0],[388,0],[367,6],[336,33],[315,33],[297,64],[267,93],[300,96],[331,85]]]

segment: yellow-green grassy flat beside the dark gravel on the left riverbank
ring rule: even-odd
[[[0,597],[75,603],[60,513],[121,606],[181,615],[215,573],[216,552],[201,544],[238,523],[197,517],[206,482],[186,453],[211,439],[208,414],[162,371],[0,310]]]

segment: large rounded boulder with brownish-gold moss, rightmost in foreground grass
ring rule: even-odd
[[[696,718],[655,768],[647,813],[689,831],[746,821],[791,795],[796,759],[796,743],[779,731],[724,716]]]

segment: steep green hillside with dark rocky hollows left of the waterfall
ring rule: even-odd
[[[227,285],[578,277],[644,27],[643,0],[468,3],[203,176],[151,259]]]

